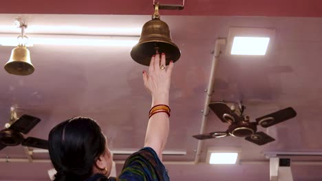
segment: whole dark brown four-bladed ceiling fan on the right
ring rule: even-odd
[[[256,122],[250,122],[250,118],[244,115],[245,106],[241,103],[238,103],[237,109],[235,106],[229,107],[224,101],[209,104],[209,107],[223,123],[229,123],[230,125],[226,132],[210,132],[193,136],[199,140],[222,138],[231,135],[235,137],[245,137],[246,141],[250,141],[257,145],[265,145],[266,143],[275,141],[275,139],[264,132],[257,132],[257,125],[268,128],[297,115],[297,112],[295,112],[293,108],[289,107],[277,112],[272,112],[264,117],[259,117],[255,119]]]

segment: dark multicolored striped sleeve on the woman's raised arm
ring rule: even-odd
[[[169,181],[170,179],[154,150],[151,147],[144,147],[127,158],[118,180]]]

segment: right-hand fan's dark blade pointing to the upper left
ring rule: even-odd
[[[237,121],[242,121],[242,118],[239,117],[237,114],[235,114],[233,110],[230,110],[230,108],[223,102],[215,102],[215,103],[209,104],[209,107],[211,108],[211,110],[213,110],[213,112],[215,112],[217,117],[224,123],[229,123],[229,122],[233,123]],[[231,120],[231,119],[234,119],[234,120]]]

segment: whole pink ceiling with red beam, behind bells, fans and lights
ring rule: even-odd
[[[0,26],[12,25],[17,16],[28,19],[30,29],[33,25],[69,25],[92,29],[142,27],[151,18],[147,15],[151,14],[150,1],[135,1],[135,4],[134,1],[126,1],[129,3],[126,6],[122,1],[71,2],[22,2],[29,6],[23,6],[21,2],[17,5],[15,1],[3,2],[0,13],[19,14],[1,14]],[[222,54],[215,74],[213,101],[242,100],[247,107],[246,114],[251,119],[287,106],[297,110],[297,117],[268,129],[260,128],[277,139],[268,145],[259,147],[231,136],[205,141],[202,147],[201,162],[205,161],[208,147],[238,147],[241,149],[241,160],[260,161],[260,165],[167,165],[171,180],[268,180],[269,167],[263,152],[322,151],[322,142],[317,138],[322,128],[322,83],[319,81],[322,76],[322,19],[308,17],[321,16],[322,10],[319,8],[322,5],[319,5],[319,1],[235,2],[186,0],[184,11],[164,12],[164,15],[193,16],[162,16],[182,51],[182,58],[175,64],[173,72],[173,114],[167,150],[187,152],[186,156],[165,156],[164,160],[191,162],[195,158],[197,141],[191,136],[200,131],[200,110],[203,108],[204,89],[211,69],[211,52],[217,38],[228,36],[229,27],[272,27],[277,34],[271,45],[272,51],[267,56],[250,58]],[[104,6],[103,3],[109,4]],[[77,31],[46,31],[34,33],[83,34]],[[3,29],[0,32],[17,33]],[[32,34],[29,36],[32,37]],[[2,64],[8,60],[11,49],[0,47]],[[18,104],[21,107],[19,115],[32,114],[42,119],[29,136],[47,138],[54,125],[81,115],[92,117],[100,123],[109,136],[112,150],[142,147],[151,101],[142,86],[142,70],[147,67],[131,60],[130,50],[131,47],[31,47],[32,63],[36,67],[34,74],[19,77],[0,69],[0,127],[8,121],[10,106]],[[222,50],[225,52],[225,47]],[[226,130],[226,126],[210,112],[207,132]],[[1,150],[0,158],[6,155],[25,158],[20,146]],[[47,158],[47,154],[34,157]],[[124,158],[115,156],[116,160]],[[118,171],[121,166],[118,165]],[[51,167],[49,163],[0,162],[0,180],[47,180],[47,169]],[[321,165],[292,165],[294,180],[300,181],[322,180],[321,169]],[[21,174],[17,174],[17,170]]]

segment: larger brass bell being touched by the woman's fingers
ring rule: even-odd
[[[158,4],[155,4],[152,20],[143,25],[140,40],[131,50],[131,58],[139,64],[149,66],[151,56],[155,53],[165,53],[166,64],[171,60],[176,62],[181,56],[179,47],[171,39],[169,26],[160,20]]]

